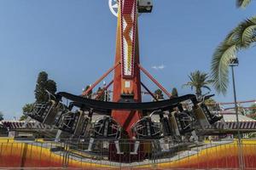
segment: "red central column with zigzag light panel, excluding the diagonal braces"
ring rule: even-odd
[[[141,77],[138,67],[137,0],[119,0],[116,63],[120,63],[120,65],[114,70],[113,102],[142,102]],[[112,111],[112,116],[123,127],[123,138],[131,139],[131,126],[141,118],[141,113],[139,111]],[[131,145],[127,146],[125,144],[123,148],[127,150],[128,147],[128,150],[132,151],[133,144]],[[139,159],[143,153],[142,148],[140,150],[140,154],[137,156],[129,155],[130,159]],[[120,158],[120,156],[114,156],[114,154],[110,155],[113,160]],[[121,157],[127,159],[127,154]]]

